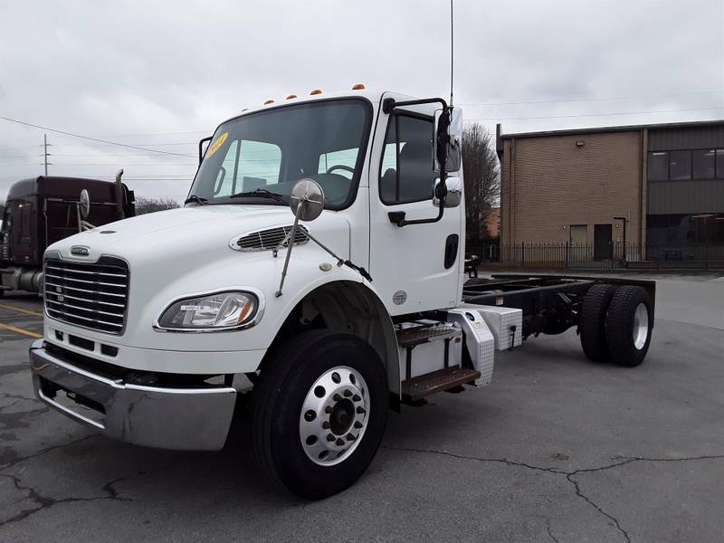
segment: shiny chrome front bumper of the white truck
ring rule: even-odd
[[[216,451],[224,447],[236,401],[233,387],[124,383],[48,352],[43,339],[30,348],[30,367],[35,395],[43,403],[104,435],[159,449]],[[62,405],[58,395],[67,395],[75,403]]]

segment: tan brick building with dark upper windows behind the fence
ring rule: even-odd
[[[497,132],[503,244],[724,242],[724,121]]]

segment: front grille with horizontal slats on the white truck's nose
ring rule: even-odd
[[[46,260],[44,281],[49,317],[111,334],[123,331],[129,300],[126,262],[107,256],[93,263]]]

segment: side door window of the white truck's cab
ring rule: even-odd
[[[433,119],[395,115],[390,119],[379,175],[387,205],[433,199]]]

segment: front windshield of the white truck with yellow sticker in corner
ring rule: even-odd
[[[229,120],[216,129],[189,195],[205,204],[285,205],[294,183],[309,177],[322,186],[325,207],[341,209],[354,199],[370,124],[371,107],[357,99]],[[247,195],[256,190],[281,198]]]

